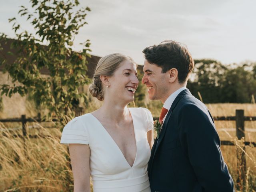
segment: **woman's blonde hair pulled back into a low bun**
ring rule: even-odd
[[[131,57],[120,53],[113,53],[104,56],[99,60],[94,72],[93,82],[89,86],[89,91],[92,96],[96,97],[100,101],[104,100],[104,88],[102,87],[100,76],[113,76],[114,72],[120,66],[120,63],[124,60],[129,60],[136,64]]]

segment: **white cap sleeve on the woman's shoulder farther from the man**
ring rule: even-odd
[[[63,128],[60,139],[62,144],[89,144],[86,126],[81,118],[74,118]]]

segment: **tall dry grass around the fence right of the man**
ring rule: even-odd
[[[212,116],[235,116],[236,109],[244,110],[245,116],[256,116],[256,104],[207,104]],[[221,146],[222,155],[235,182],[237,191],[256,191],[256,147],[244,146],[243,141],[256,142],[256,121],[245,121],[245,138],[236,138],[235,121],[215,121],[220,140],[230,140],[235,146]],[[242,180],[242,153],[246,158],[246,178]]]

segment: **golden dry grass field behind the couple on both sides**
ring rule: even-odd
[[[98,107],[92,103],[86,112]],[[131,104],[133,106],[134,104]],[[153,116],[160,112],[159,102],[147,102],[147,107],[152,111]],[[244,109],[245,116],[256,116],[255,104],[208,104],[212,116],[235,116],[236,109]],[[36,112],[32,106],[26,107],[23,111],[27,116]],[[19,117],[15,114],[13,117]],[[8,116],[10,117],[10,116]],[[0,114],[0,118],[6,115]],[[216,128],[221,140],[235,141],[236,124],[233,121],[216,121]],[[66,145],[59,144],[60,128],[46,128],[53,124],[28,124],[28,127],[36,125],[37,128],[28,128],[29,134],[36,134],[38,138],[13,138],[13,134],[21,134],[21,130],[8,130],[20,127],[20,123],[0,123],[0,191],[18,192],[66,192],[72,191],[72,170],[70,158]],[[44,137],[42,135],[46,135]],[[245,140],[256,142],[256,121],[245,122]],[[239,144],[242,148],[242,144]],[[224,160],[229,171],[236,182],[238,173],[236,170],[237,149],[239,146],[221,146]],[[240,191],[256,191],[256,148],[246,146],[246,186]],[[210,173],[209,173],[210,174]],[[239,184],[238,184],[239,186]],[[239,191],[239,190],[237,190]]]

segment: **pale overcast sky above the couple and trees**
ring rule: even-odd
[[[24,30],[29,22],[17,16],[29,0],[0,0],[0,32],[14,37],[8,18]],[[255,0],[80,0],[88,6],[84,26],[74,41],[90,39],[92,54],[120,52],[144,63],[142,50],[170,39],[188,46],[193,58],[212,58],[224,64],[256,61]]]

